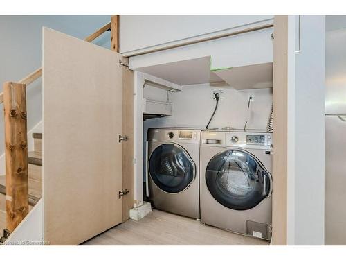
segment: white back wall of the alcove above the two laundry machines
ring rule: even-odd
[[[144,89],[146,90],[153,89]],[[181,92],[169,93],[172,102],[172,116],[161,119],[148,119],[143,123],[143,158],[146,154],[148,128],[156,127],[196,127],[205,128],[215,107],[214,92],[221,92],[219,106],[210,128],[230,126],[243,129],[266,129],[271,112],[272,89],[235,90],[228,85],[211,86],[209,84],[183,86]],[[145,93],[144,96],[150,96]],[[248,98],[252,96],[248,110]],[[145,172],[145,159],[143,160]],[[145,180],[145,173],[143,174]]]

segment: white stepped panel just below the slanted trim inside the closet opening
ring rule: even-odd
[[[211,57],[211,69],[273,62],[273,28],[130,57],[131,69]]]

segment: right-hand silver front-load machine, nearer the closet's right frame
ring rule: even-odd
[[[271,239],[272,134],[201,132],[201,222]]]

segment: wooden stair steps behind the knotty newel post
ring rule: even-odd
[[[33,139],[34,150],[28,152],[29,211],[42,198],[42,134],[34,133]],[[5,194],[6,175],[0,175],[0,232],[6,228]]]

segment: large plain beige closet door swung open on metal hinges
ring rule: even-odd
[[[77,245],[122,222],[121,56],[44,28],[44,241]]]

